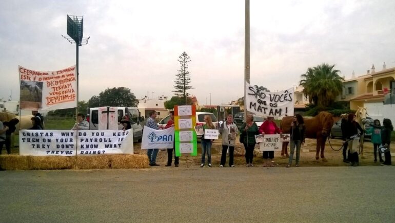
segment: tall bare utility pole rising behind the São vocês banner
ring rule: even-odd
[[[244,31],[244,121],[247,122],[247,96],[246,84],[250,83],[250,0],[246,0],[245,14],[245,31]]]

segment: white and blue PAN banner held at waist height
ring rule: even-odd
[[[173,148],[174,127],[164,130],[156,130],[148,126],[144,127],[141,149],[149,148]]]

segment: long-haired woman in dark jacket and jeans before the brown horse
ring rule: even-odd
[[[289,154],[288,165],[285,167],[289,168],[292,165],[293,153],[295,152],[295,146],[297,147],[297,158],[295,166],[299,167],[299,157],[301,154],[301,144],[305,142],[305,124],[303,117],[299,114],[293,116],[293,121],[291,123],[291,152]]]

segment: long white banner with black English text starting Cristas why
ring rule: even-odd
[[[133,154],[133,131],[21,130],[19,155],[75,156]]]

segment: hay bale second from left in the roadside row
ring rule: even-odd
[[[74,157],[68,156],[31,156],[31,170],[62,170],[74,167]]]

